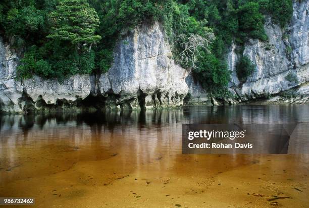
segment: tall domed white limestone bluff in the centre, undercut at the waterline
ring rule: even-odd
[[[141,25],[115,47],[114,64],[99,78],[97,92],[119,95],[128,108],[180,106],[188,72],[176,65],[159,23]]]

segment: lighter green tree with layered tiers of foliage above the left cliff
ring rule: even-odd
[[[88,46],[89,51],[92,44],[101,39],[101,36],[95,35],[99,26],[98,16],[87,0],[61,0],[49,17],[53,27],[48,38],[69,41],[78,49],[81,45]]]

